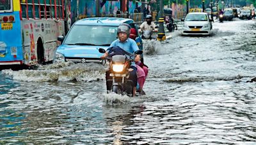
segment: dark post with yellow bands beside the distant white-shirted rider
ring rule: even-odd
[[[165,33],[164,33],[164,18],[163,18],[163,0],[160,0],[160,10],[159,10],[159,29],[158,29],[158,35],[157,40],[163,41],[166,39]]]

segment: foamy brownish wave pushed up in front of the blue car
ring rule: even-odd
[[[39,66],[36,70],[3,70],[2,73],[19,81],[99,81],[105,78],[106,68],[101,64],[73,64],[62,62]]]

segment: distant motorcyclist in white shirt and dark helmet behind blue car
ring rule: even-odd
[[[152,15],[147,15],[146,22],[143,22],[140,25],[140,31],[141,32],[145,32],[145,31],[157,32],[156,24],[152,22]],[[145,37],[142,35],[142,38],[144,39]]]

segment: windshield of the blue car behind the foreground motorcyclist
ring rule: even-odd
[[[64,45],[108,46],[116,39],[117,27],[102,25],[74,25]]]

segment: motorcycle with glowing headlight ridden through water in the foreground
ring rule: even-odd
[[[115,50],[116,49],[116,50]],[[105,53],[106,50],[103,48],[99,48],[100,53]],[[125,52],[122,48],[119,47],[111,47],[109,49],[109,56],[106,60],[109,61],[109,76],[112,79],[106,80],[111,81],[111,92],[115,92],[121,95],[129,95],[132,96],[133,93],[133,82],[129,78],[129,68],[131,66],[131,62],[135,61],[135,54],[142,54],[142,50],[137,50],[134,54]]]

